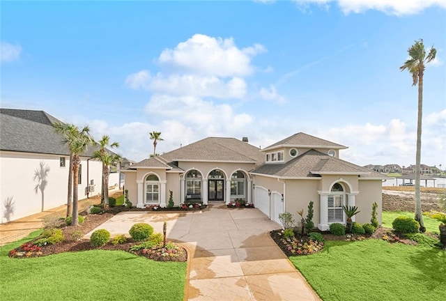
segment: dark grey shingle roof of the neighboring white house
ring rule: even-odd
[[[0,150],[70,155],[61,135],[54,132],[56,122],[61,121],[45,111],[0,109]],[[92,157],[96,149],[91,146],[82,156]]]

